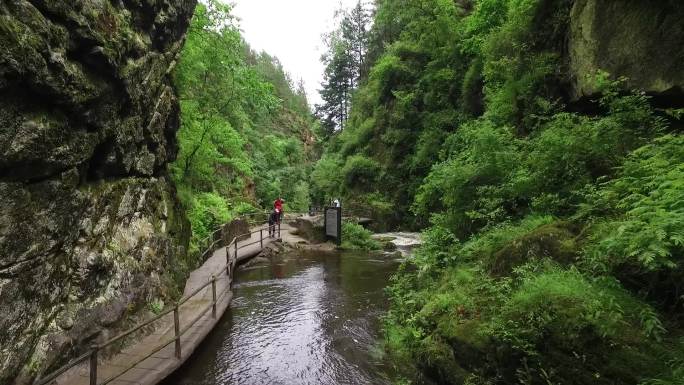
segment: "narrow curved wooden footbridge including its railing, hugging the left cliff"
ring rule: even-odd
[[[269,237],[268,227],[259,226],[236,235],[227,245],[212,236],[203,254],[208,259],[190,274],[177,303],[124,333],[92,345],[88,352],[34,384],[157,384],[190,357],[230,306],[236,265],[259,254],[288,229],[278,225],[276,235]],[[138,342],[121,350],[137,336],[142,336]]]

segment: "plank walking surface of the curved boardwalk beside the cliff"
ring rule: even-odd
[[[285,236],[287,233],[287,226],[281,228],[281,234]],[[266,235],[268,231],[264,231]],[[244,261],[256,256],[262,250],[261,245],[256,243],[254,245],[244,246],[259,240],[259,234],[254,234],[250,239],[240,241],[238,243],[238,262]],[[264,237],[264,247],[273,242],[275,238]],[[231,253],[233,250],[231,248]],[[207,259],[207,261],[197,270],[193,271],[188,278],[183,296],[186,296],[197,288],[202,287],[208,281],[211,281],[212,275],[217,274],[226,266],[226,248],[221,247],[214,252],[214,254]],[[232,273],[231,273],[232,275]],[[175,356],[174,338],[174,320],[173,313],[161,318],[154,325],[154,331],[127,348],[120,353],[108,359],[98,361],[97,370],[97,384],[114,384],[114,385],[154,385],[159,383],[169,374],[178,369],[189,357],[197,346],[204,340],[209,332],[221,319],[226,309],[230,306],[233,293],[230,290],[230,283],[233,277],[226,273],[216,276],[216,318],[212,316],[211,309],[206,311],[201,318],[192,325],[181,336],[181,357]],[[187,325],[197,318],[207,307],[212,303],[212,288],[207,286],[204,290],[195,295],[188,302],[180,306],[179,321],[180,329],[183,330]],[[154,353],[149,358],[131,367],[134,362],[143,357],[148,356],[156,348],[166,343],[166,346]],[[112,379],[113,377],[116,377]],[[111,380],[110,380],[111,379]],[[64,374],[59,376],[52,384],[56,385],[89,385],[90,384],[90,370],[88,361],[77,365]]]

